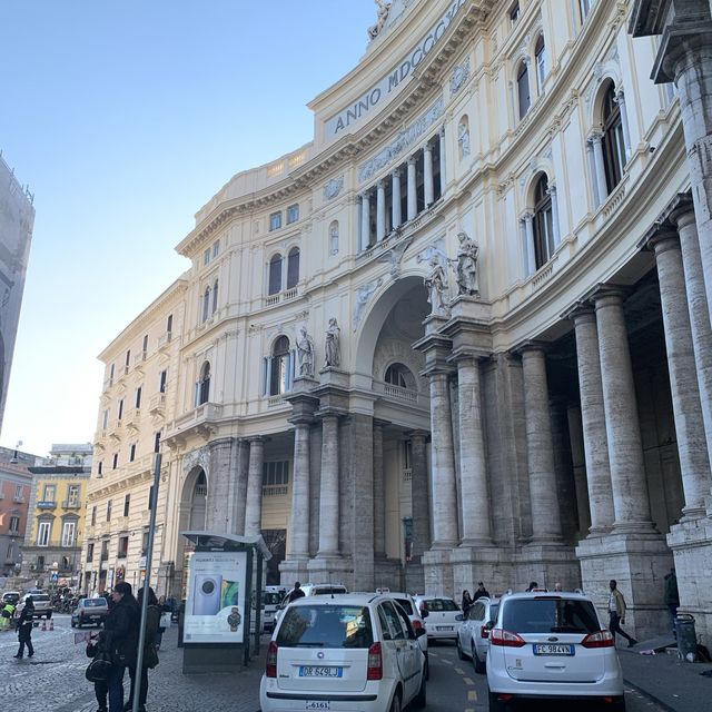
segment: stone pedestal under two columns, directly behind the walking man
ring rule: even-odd
[[[663,577],[672,566],[672,553],[663,535],[650,528],[627,533],[614,526],[610,534],[589,536],[576,546],[583,589],[601,620],[609,620],[609,582],[615,578],[627,605],[623,627],[641,641],[670,632]]]

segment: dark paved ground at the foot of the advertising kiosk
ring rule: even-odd
[[[263,636],[259,655],[253,657],[249,668],[233,674],[208,673],[184,675],[182,647],[178,647],[178,626],[164,634],[158,653],[160,663],[148,672],[148,712],[195,712],[196,710],[230,710],[230,712],[257,712],[259,710],[259,681],[265,671],[267,637]],[[125,700],[130,690],[128,672],[123,678]],[[77,712],[96,712],[97,704],[83,705]]]

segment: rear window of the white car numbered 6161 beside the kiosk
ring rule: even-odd
[[[284,647],[370,647],[366,606],[300,605],[287,609],[276,643]]]

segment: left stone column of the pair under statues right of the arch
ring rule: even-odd
[[[428,375],[433,433],[433,548],[452,548],[457,545],[457,496],[448,378],[443,372]]]

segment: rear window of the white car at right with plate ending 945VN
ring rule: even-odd
[[[595,633],[601,630],[591,601],[526,599],[508,601],[502,627],[513,633]]]

